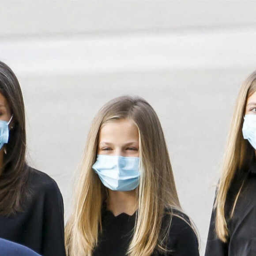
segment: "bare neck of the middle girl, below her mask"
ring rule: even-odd
[[[107,209],[115,216],[121,213],[133,215],[136,211],[136,190],[113,191],[109,189]]]

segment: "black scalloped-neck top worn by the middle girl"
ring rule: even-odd
[[[179,214],[188,220],[186,215]],[[122,213],[115,217],[111,211],[105,211],[102,216],[103,231],[93,256],[125,256],[133,235],[135,218],[136,213],[132,216]],[[165,215],[163,227],[167,225],[169,218]],[[166,256],[199,256],[196,234],[184,220],[176,216],[171,221],[167,244],[173,252],[168,252]],[[152,256],[163,255],[155,252]]]

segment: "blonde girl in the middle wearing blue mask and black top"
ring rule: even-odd
[[[68,256],[199,256],[154,109],[123,96],[93,120],[66,226]]]

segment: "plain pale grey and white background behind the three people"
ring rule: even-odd
[[[204,253],[235,99],[256,69],[254,1],[1,1],[0,60],[20,81],[28,159],[71,210],[87,132],[110,99],[139,95],[165,132]]]

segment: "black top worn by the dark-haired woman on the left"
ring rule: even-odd
[[[31,199],[15,216],[0,216],[0,237],[43,256],[65,256],[63,199],[56,182],[32,170]]]

